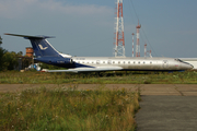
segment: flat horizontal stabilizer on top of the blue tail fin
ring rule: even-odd
[[[9,33],[5,33],[4,35],[11,35],[11,36],[24,37],[24,38],[27,38],[27,39],[55,38],[54,36],[28,36],[28,35],[18,35],[18,34],[9,34]]]

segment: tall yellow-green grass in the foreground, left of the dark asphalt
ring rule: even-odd
[[[0,130],[134,131],[139,92],[73,86],[0,94]]]

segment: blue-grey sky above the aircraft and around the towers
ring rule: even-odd
[[[31,47],[27,39],[5,36],[55,36],[60,52],[81,57],[113,57],[117,0],[0,0],[0,36],[9,51]],[[144,43],[153,57],[197,58],[196,0],[123,0],[126,56],[132,56],[138,20],[140,51]],[[136,35],[135,35],[136,45]]]

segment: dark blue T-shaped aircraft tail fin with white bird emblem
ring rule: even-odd
[[[60,53],[46,40],[46,38],[54,38],[49,36],[27,36],[18,34],[4,34],[11,36],[24,37],[30,39],[36,57],[59,57]]]

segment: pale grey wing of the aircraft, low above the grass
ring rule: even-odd
[[[76,69],[68,69],[68,70],[47,70],[46,72],[93,72],[93,71],[120,71],[123,68],[120,67],[96,67],[96,68],[76,68]]]

